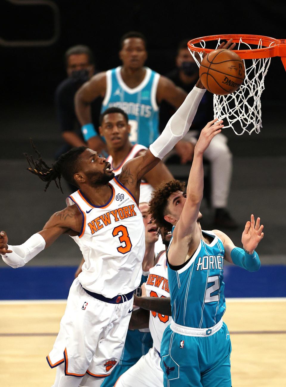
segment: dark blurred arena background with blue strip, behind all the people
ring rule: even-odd
[[[48,218],[65,207],[65,195],[26,171],[23,152],[32,153],[29,138],[48,164],[63,140],[56,117],[54,92],[66,78],[65,51],[89,46],[97,71],[120,65],[119,39],[140,31],[148,41],[146,65],[165,75],[175,67],[182,39],[213,34],[260,34],[286,38],[286,6],[277,1],[208,3],[183,1],[46,1],[2,0],[0,12],[1,229],[11,244],[20,244],[43,228]],[[280,58],[272,58],[262,94],[260,134],[237,136],[225,129],[233,154],[228,208],[238,229],[226,231],[238,246],[250,214],[260,216],[265,236],[259,245],[263,267],[250,279],[242,269],[226,267],[226,296],[286,296],[284,286],[286,231],[286,73]],[[206,122],[212,117],[207,117]],[[191,164],[187,164],[187,172]],[[172,166],[186,175],[186,166]],[[175,169],[174,169],[175,168]],[[207,171],[206,171],[207,172]],[[202,204],[204,227],[213,216]],[[223,230],[225,231],[225,230]],[[21,270],[0,261],[0,298],[66,298],[81,259],[78,246],[62,236]],[[228,281],[229,276],[229,281]],[[11,290],[11,283],[17,287]],[[40,282],[39,282],[40,281]],[[40,283],[40,286],[39,286]],[[271,283],[271,286],[269,285]],[[52,285],[52,286],[51,286]]]

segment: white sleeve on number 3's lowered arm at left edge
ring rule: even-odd
[[[39,252],[44,250],[45,246],[46,241],[43,236],[40,234],[34,234],[22,245],[8,245],[8,250],[12,250],[12,253],[2,255],[2,259],[7,265],[16,269],[17,267],[24,266],[27,262],[39,254]]]

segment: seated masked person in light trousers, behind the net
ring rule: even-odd
[[[167,77],[178,87],[189,93],[196,84],[199,68],[187,48],[189,39],[180,42],[176,57],[176,68]],[[174,108],[167,101],[160,106],[160,130],[163,130]],[[206,91],[192,122],[191,130],[185,139],[195,145],[201,129],[213,117],[213,95]],[[237,228],[237,223],[226,209],[232,177],[232,153],[227,145],[227,138],[220,133],[213,139],[204,153],[211,164],[211,206],[215,209],[213,228]]]

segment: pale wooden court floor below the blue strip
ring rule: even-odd
[[[286,298],[226,300],[233,387],[286,386]],[[0,386],[51,387],[64,301],[0,301]]]

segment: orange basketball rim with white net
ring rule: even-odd
[[[286,42],[285,39],[261,35],[211,35],[190,40],[188,48],[195,62],[200,66],[203,52],[208,54],[216,50],[223,40],[229,39],[237,43],[237,50],[233,51],[244,62],[245,79],[240,88],[232,94],[213,95],[214,117],[227,120],[227,123],[224,122],[224,127],[231,127],[237,135],[245,131],[251,134],[254,130],[259,133],[262,128],[260,97],[265,88],[264,78],[272,57],[281,57],[286,70]],[[206,46],[206,43],[211,45],[209,42],[213,43],[212,48]],[[237,128],[238,122],[242,128],[241,132]]]

